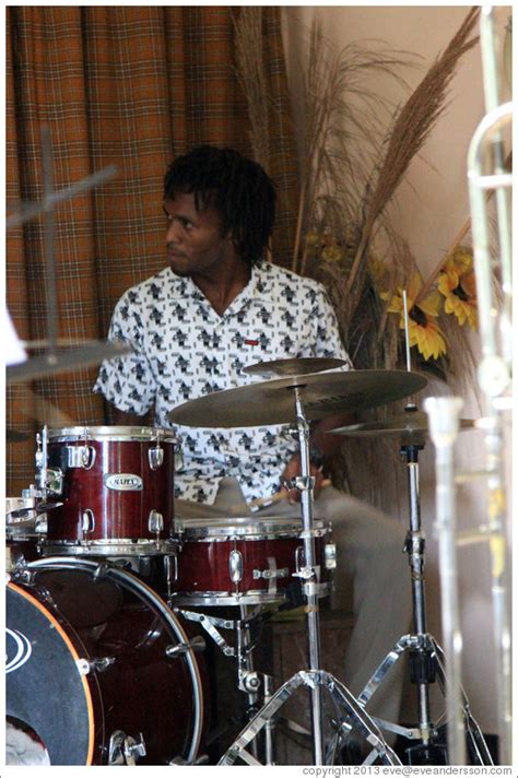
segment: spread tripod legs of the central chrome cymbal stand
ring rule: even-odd
[[[385,742],[374,720],[365,712],[356,698],[338,679],[323,670],[302,670],[292,675],[256,714],[217,764],[233,765],[240,761],[247,765],[260,765],[254,755],[247,751],[247,746],[263,728],[272,726],[278,710],[301,686],[306,686],[310,689],[315,687],[326,689],[338,714],[335,720],[331,721],[334,734],[326,748],[326,764],[334,764],[337,751],[340,744],[346,740],[353,726],[356,727],[361,735],[372,746],[370,753],[363,764],[370,765],[377,759],[385,765],[401,764],[395,752]]]

